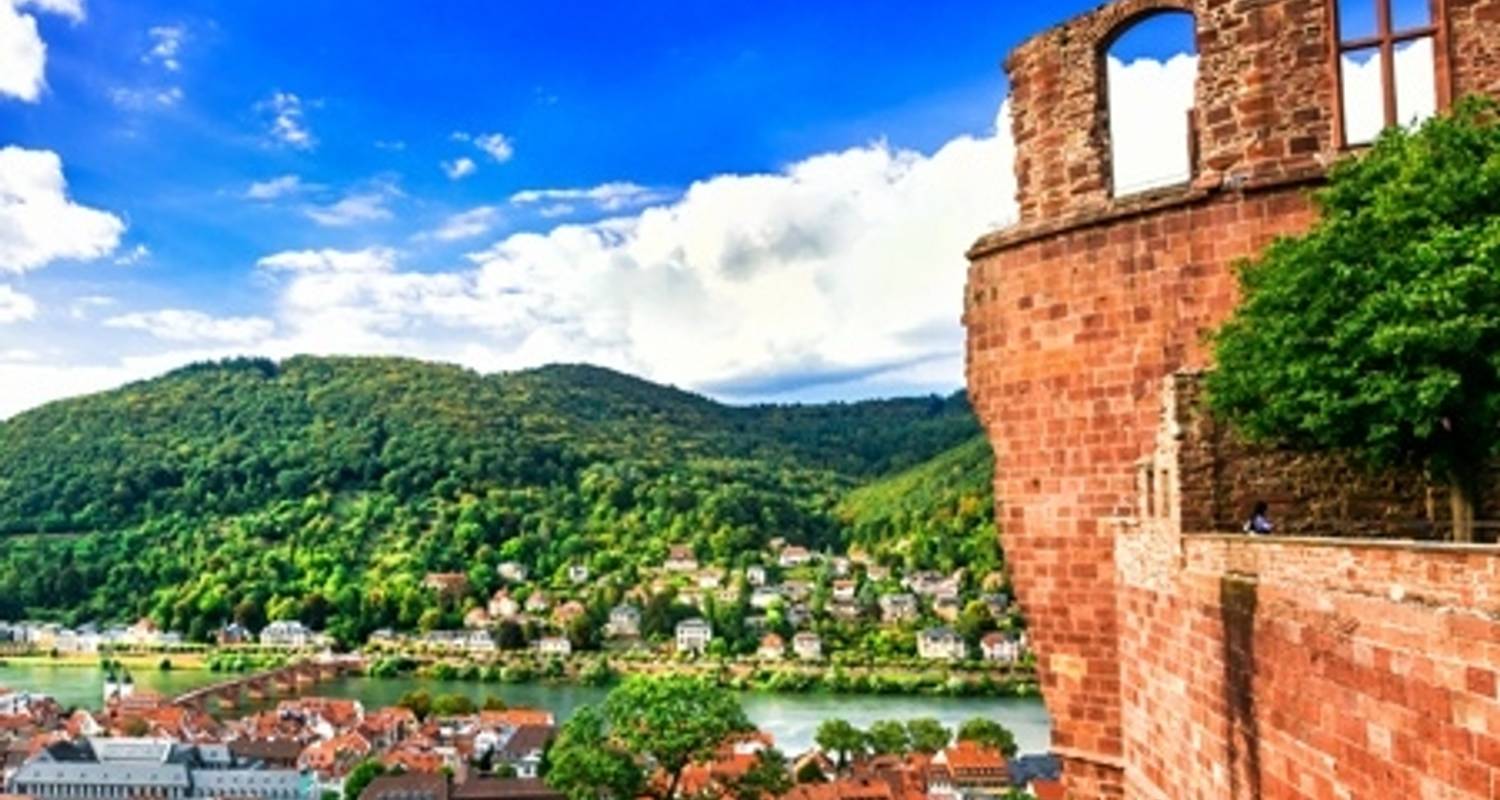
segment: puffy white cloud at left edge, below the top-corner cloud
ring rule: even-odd
[[[68,198],[57,153],[0,149],[0,273],[102,258],[114,252],[122,233],[120,218]]]

